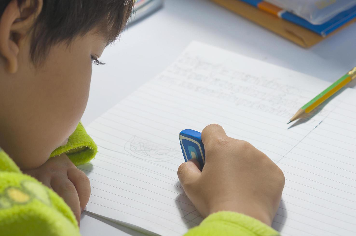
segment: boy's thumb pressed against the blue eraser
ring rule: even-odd
[[[195,159],[190,159],[189,161],[182,163],[178,167],[177,174],[184,190],[189,188],[189,186],[194,186],[194,183],[198,181],[201,175],[199,162]]]

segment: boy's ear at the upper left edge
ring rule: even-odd
[[[7,72],[16,73],[23,39],[41,13],[43,0],[25,0],[21,6],[11,0],[0,18],[0,55],[7,61]]]

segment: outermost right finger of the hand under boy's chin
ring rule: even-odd
[[[75,189],[77,189],[78,198],[80,202],[80,212],[83,211],[87,205],[90,197],[90,181],[87,175],[81,170],[70,169],[68,170],[68,179],[72,181]]]

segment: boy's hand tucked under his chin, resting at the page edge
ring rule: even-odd
[[[62,154],[48,159],[42,166],[23,171],[52,188],[70,206],[78,224],[80,213],[90,197],[90,182],[83,171]]]

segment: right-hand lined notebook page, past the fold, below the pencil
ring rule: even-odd
[[[286,177],[273,227],[282,235],[356,235],[356,94],[277,163]]]

